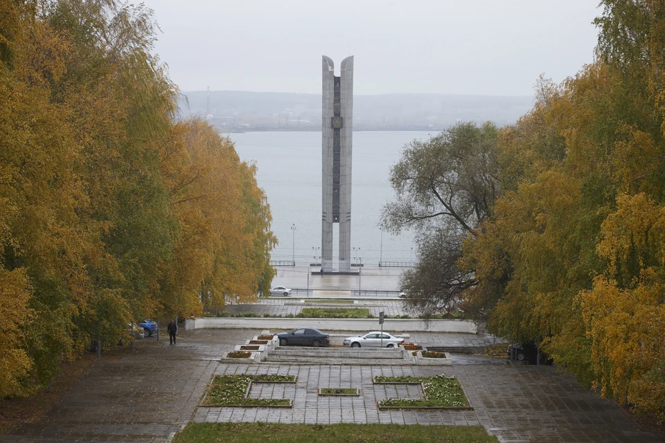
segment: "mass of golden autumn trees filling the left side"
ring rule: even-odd
[[[0,398],[131,321],[269,290],[256,167],[178,121],[156,30],[115,0],[0,2]]]

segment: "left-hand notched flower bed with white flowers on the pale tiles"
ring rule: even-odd
[[[292,406],[290,399],[248,398],[252,382],[295,383],[294,375],[215,375],[202,406]]]

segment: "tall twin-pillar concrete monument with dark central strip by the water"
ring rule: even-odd
[[[353,57],[335,64],[323,55],[323,192],[321,266],[323,272],[351,270],[351,137],[353,134]],[[332,262],[332,230],[339,227],[339,263]]]

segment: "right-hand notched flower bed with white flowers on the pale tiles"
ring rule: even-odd
[[[374,377],[374,383],[420,384],[423,385],[424,399],[390,398],[379,402],[380,409],[450,409],[473,410],[464,395],[462,386],[455,377],[439,374],[434,377]]]

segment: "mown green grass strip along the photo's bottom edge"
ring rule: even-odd
[[[190,423],[173,443],[497,443],[482,426]]]

